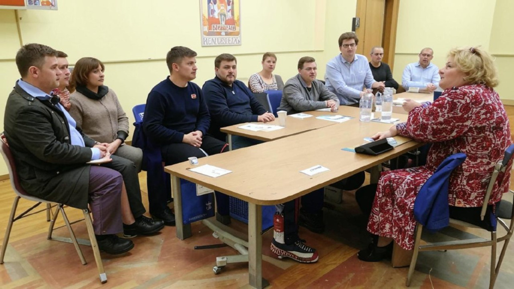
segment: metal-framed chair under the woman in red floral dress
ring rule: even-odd
[[[485,246],[491,246],[491,273],[490,273],[490,279],[489,279],[489,288],[494,287],[494,282],[496,281],[498,277],[498,273],[500,271],[500,266],[502,264],[503,258],[505,257],[505,251],[507,250],[507,245],[510,241],[510,237],[512,236],[512,232],[514,232],[514,207],[512,207],[512,204],[507,201],[501,201],[500,207],[502,207],[502,214],[494,215],[492,212],[487,210],[488,208],[488,202],[491,195],[492,188],[494,187],[494,184],[496,183],[498,174],[500,172],[505,172],[506,168],[509,166],[509,162],[512,158],[512,154],[514,153],[514,145],[510,145],[507,150],[505,151],[505,156],[503,160],[499,161],[498,164],[494,166],[494,170],[492,172],[491,178],[489,180],[489,185],[487,188],[487,192],[484,198],[484,204],[481,208],[481,220],[484,220],[485,218],[491,218],[491,225],[492,228],[487,229],[490,231],[491,238],[474,238],[474,239],[463,239],[463,240],[455,240],[455,241],[444,241],[444,242],[434,242],[434,243],[428,243],[426,245],[420,245],[421,241],[421,232],[423,231],[423,225],[421,225],[419,222],[416,225],[416,232],[415,232],[415,242],[414,242],[414,252],[412,255],[410,267],[409,267],[409,273],[407,275],[407,281],[406,285],[409,286],[412,280],[412,275],[414,273],[414,268],[416,266],[416,261],[418,257],[418,253],[420,251],[433,251],[433,250],[449,250],[449,249],[465,249],[465,248],[473,248],[473,247],[485,247]],[[428,182],[428,181],[427,181]],[[423,189],[423,188],[422,188]],[[512,191],[511,191],[512,192]],[[510,209],[509,214],[505,213],[505,207],[508,207]],[[510,219],[510,225],[507,226],[503,219]],[[502,225],[502,227],[505,229],[506,233],[504,236],[498,238],[496,227],[497,222]],[[461,220],[456,219],[449,219],[450,224],[459,225],[467,228],[479,228],[479,229],[486,229],[485,226],[477,226],[468,222],[464,222]],[[500,257],[498,259],[498,263],[496,262],[496,251],[497,251],[497,245],[498,243],[505,241],[502,247],[502,251],[500,254]]]

